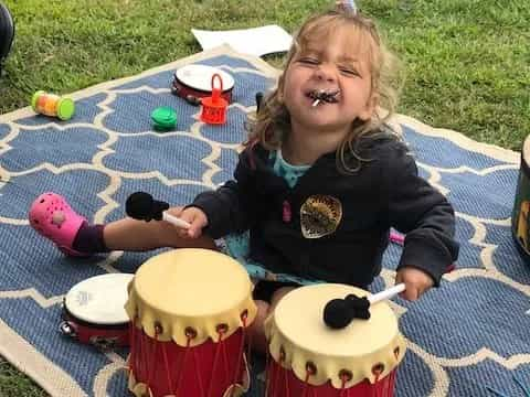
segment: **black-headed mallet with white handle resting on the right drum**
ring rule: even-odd
[[[332,329],[343,329],[353,319],[370,319],[370,305],[392,298],[405,290],[404,283],[399,283],[370,297],[359,298],[350,293],[344,299],[332,299],[324,308],[324,322]]]

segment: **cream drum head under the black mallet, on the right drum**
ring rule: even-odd
[[[267,319],[266,334],[273,358],[306,378],[308,365],[316,368],[309,383],[328,380],[341,386],[340,374],[351,374],[349,386],[363,379],[371,383],[386,376],[403,358],[404,341],[398,320],[385,302],[370,308],[369,320],[356,319],[333,330],[324,322],[324,308],[331,299],[368,292],[346,285],[322,283],[287,293]]]

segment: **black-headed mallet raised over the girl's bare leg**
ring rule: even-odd
[[[139,221],[166,221],[177,227],[189,228],[190,224],[186,221],[169,214],[166,210],[169,204],[166,202],[153,200],[149,193],[136,192],[127,197],[125,203],[125,212],[131,218]]]

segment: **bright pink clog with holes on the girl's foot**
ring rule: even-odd
[[[72,247],[83,222],[86,219],[76,214],[59,194],[43,193],[31,204],[30,225],[66,255],[87,256]]]

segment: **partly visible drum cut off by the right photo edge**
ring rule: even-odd
[[[524,139],[521,165],[517,182],[516,200],[511,214],[511,233],[522,258],[530,262],[530,136]]]

